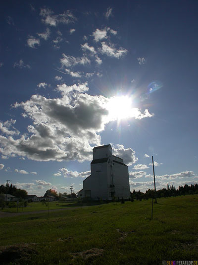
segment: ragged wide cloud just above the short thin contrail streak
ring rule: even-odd
[[[62,66],[71,67],[76,65],[87,65],[90,64],[90,60],[86,57],[73,57],[69,55],[62,54],[62,58],[60,59],[60,63]]]

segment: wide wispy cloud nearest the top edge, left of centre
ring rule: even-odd
[[[50,26],[56,26],[59,23],[69,24],[76,21],[76,17],[70,10],[62,14],[55,15],[49,8],[41,8],[40,15],[43,17],[42,22]]]

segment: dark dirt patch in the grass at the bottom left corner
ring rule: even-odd
[[[37,251],[31,249],[28,245],[0,247],[0,264],[7,265],[12,262],[14,262],[16,265],[26,264],[33,256],[37,254]]]

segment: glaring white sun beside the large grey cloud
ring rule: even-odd
[[[109,98],[107,104],[109,117],[112,120],[123,120],[131,116],[132,99],[128,96],[115,96]]]

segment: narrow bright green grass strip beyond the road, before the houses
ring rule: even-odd
[[[57,202],[57,201],[50,201],[49,202],[49,209],[61,209],[64,208],[70,204],[74,204],[75,202]],[[48,206],[43,204],[42,202],[29,202],[27,207],[18,207],[18,212],[28,212],[28,211],[41,211],[41,210],[48,210]],[[17,207],[15,208],[4,208],[4,212],[17,212]]]

